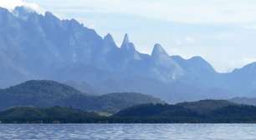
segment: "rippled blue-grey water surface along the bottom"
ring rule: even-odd
[[[255,140],[256,124],[0,124],[0,139]]]

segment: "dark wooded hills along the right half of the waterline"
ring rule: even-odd
[[[144,104],[115,113],[113,122],[256,122],[256,107],[219,100]]]

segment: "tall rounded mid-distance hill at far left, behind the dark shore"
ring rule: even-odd
[[[14,106],[53,107],[74,95],[83,96],[83,93],[59,82],[33,80],[0,91],[0,109]]]

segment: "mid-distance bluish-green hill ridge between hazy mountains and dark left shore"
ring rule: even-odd
[[[74,107],[86,111],[117,112],[142,103],[161,103],[155,97],[140,93],[110,93],[91,96],[74,87],[54,81],[28,81],[0,90],[0,110],[8,107]]]

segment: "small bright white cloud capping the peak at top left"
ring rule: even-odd
[[[39,7],[38,4],[34,2],[24,2],[23,0],[0,0],[0,7],[8,8],[8,10],[13,10],[15,7],[24,6],[32,8],[38,13],[43,13],[43,8]]]

